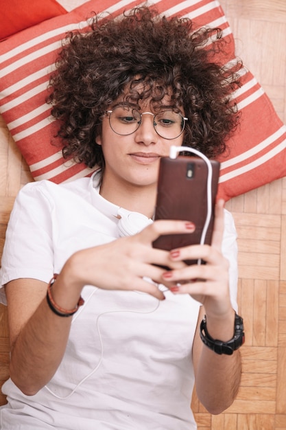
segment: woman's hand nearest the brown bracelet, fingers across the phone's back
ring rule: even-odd
[[[73,286],[79,294],[88,284],[108,290],[143,291],[164,299],[163,293],[146,278],[171,286],[162,277],[165,269],[159,265],[182,269],[186,264],[171,258],[168,251],[154,249],[152,242],[161,234],[191,234],[194,229],[193,223],[187,221],[157,220],[134,236],[76,252],[64,264],[56,283]]]

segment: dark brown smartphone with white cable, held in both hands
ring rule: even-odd
[[[211,187],[209,218],[204,243],[211,244],[214,223],[214,206],[219,179],[219,161],[211,163]],[[167,251],[187,245],[200,244],[208,215],[208,166],[196,156],[178,156],[176,159],[160,159],[158,188],[154,220],[190,220],[195,231],[190,234],[168,234],[153,242],[153,247]],[[198,260],[187,260],[187,264],[198,264]]]

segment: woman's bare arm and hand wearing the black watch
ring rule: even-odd
[[[199,400],[211,414],[220,414],[235,400],[241,378],[239,350],[232,355],[217,354],[202,343],[200,323],[206,315],[206,326],[213,339],[229,341],[235,331],[235,310],[230,300],[229,267],[222,255],[224,234],[223,201],[215,208],[215,226],[211,246],[185,247],[171,251],[174,260],[202,258],[206,264],[169,271],[163,275],[173,282],[171,291],[189,293],[203,306],[193,342],[193,364]],[[178,282],[181,284],[178,286]]]

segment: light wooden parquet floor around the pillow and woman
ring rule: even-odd
[[[286,122],[286,0],[220,3],[237,54]],[[1,124],[0,133],[1,254],[14,197],[31,177]],[[206,413],[193,396],[198,430],[286,430],[286,179],[239,196],[227,207],[239,235],[239,313],[246,328],[242,384],[233,406],[219,416]],[[8,378],[8,360],[8,327],[0,306],[0,383]]]

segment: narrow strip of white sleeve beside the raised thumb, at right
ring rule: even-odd
[[[222,241],[222,253],[228,259],[229,267],[229,287],[230,300],[233,308],[237,312],[237,231],[235,229],[235,221],[232,214],[228,210],[224,210],[224,238]]]

